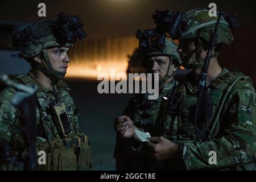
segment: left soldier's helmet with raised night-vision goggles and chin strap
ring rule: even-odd
[[[84,39],[86,34],[82,30],[79,16],[58,14],[57,19],[49,19],[28,25],[23,30],[14,32],[13,46],[19,57],[32,59],[42,53],[47,68],[38,68],[53,80],[59,80],[65,73],[56,72],[48,58],[47,49],[53,47],[72,47],[77,37]]]

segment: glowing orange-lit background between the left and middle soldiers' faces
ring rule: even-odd
[[[131,55],[137,47],[138,40],[134,36],[77,42],[71,49],[67,77],[97,80],[98,74],[106,73],[110,78],[112,68],[115,73],[126,74],[127,55]]]

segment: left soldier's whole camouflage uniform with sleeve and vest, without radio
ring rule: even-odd
[[[24,76],[14,78],[20,84],[36,85],[38,99],[36,106],[37,123],[37,152],[46,152],[46,165],[38,165],[38,170],[88,170],[90,169],[90,146],[88,137],[81,133],[76,106],[69,95],[69,88],[64,81],[59,80],[55,86],[57,97],[53,90],[44,88],[30,72]],[[11,105],[15,94],[13,88],[6,88],[0,95],[0,138],[9,140],[11,150],[15,155],[26,159],[27,148],[22,135],[19,110]],[[59,125],[51,113],[53,102],[64,103],[72,133],[62,137]]]

